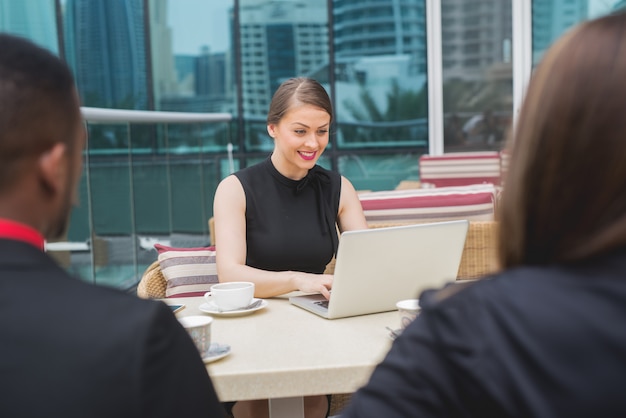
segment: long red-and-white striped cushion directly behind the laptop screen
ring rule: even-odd
[[[491,184],[359,195],[367,223],[378,226],[455,219],[493,221],[497,197],[498,189]]]

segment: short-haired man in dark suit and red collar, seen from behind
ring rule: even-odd
[[[195,345],[157,301],[70,277],[86,132],[65,64],[0,34],[0,416],[222,417]]]

